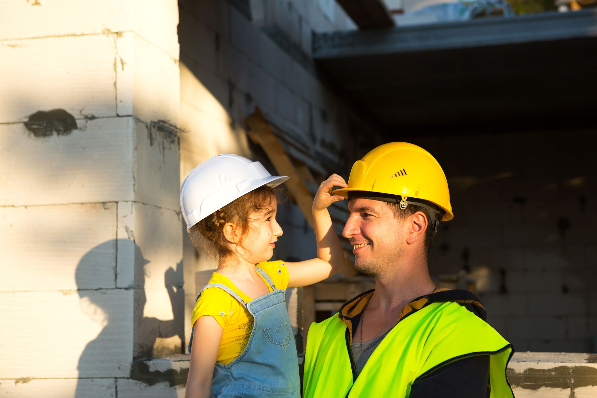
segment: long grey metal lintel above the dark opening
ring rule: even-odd
[[[597,37],[597,10],[316,33],[313,58],[359,57]]]

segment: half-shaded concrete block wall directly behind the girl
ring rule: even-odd
[[[247,138],[245,118],[255,106],[293,127],[303,143],[315,148],[322,158],[338,163],[338,172],[347,174],[352,162],[348,164],[346,159],[358,151],[354,132],[364,132],[373,141],[378,139],[377,132],[321,81],[305,55],[310,52],[310,39],[300,41],[298,25],[287,23],[287,19],[300,20],[304,34],[345,29],[352,23],[335,2],[324,0],[251,1],[250,5],[252,19],[225,0],[179,2],[180,124],[187,131],[181,135],[181,181],[196,165],[220,153],[261,161],[275,172],[260,147]],[[326,14],[324,8],[331,11]],[[280,27],[276,35],[284,40],[272,38],[272,24]],[[297,53],[300,43],[303,47]],[[288,261],[312,258],[315,237],[300,210],[287,202],[279,211],[279,220],[284,236],[274,257]],[[183,229],[189,331],[196,298],[195,271],[213,269],[216,264],[198,254]],[[289,310],[294,311],[291,316],[297,332],[296,292],[288,299],[295,303]]]

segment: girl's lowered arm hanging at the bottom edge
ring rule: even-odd
[[[224,329],[213,316],[201,316],[195,321],[193,347],[190,350],[189,377],[184,398],[209,398],[211,378]]]

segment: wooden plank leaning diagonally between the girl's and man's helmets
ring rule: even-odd
[[[311,212],[313,196],[303,179],[298,175],[293,163],[288,158],[286,152],[284,152],[284,148],[282,148],[278,138],[273,134],[272,128],[258,108],[256,108],[253,115],[248,116],[247,124],[251,128],[248,132],[249,137],[254,143],[259,144],[263,148],[267,157],[276,168],[276,172],[279,175],[288,175],[290,177],[285,183],[286,187],[293,196],[298,208],[303,212],[307,223],[313,229],[313,215]]]

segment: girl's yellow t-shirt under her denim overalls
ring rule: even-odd
[[[288,270],[283,261],[263,261],[257,264],[256,267],[264,270],[269,275],[276,289],[286,289],[288,287]],[[267,283],[267,280],[261,278],[266,283],[269,291],[273,292],[272,286]],[[220,283],[229,287],[247,303],[253,300],[230,282],[230,279],[217,272],[211,275],[209,283]],[[195,325],[195,321],[204,315],[213,316],[224,329],[216,360],[223,365],[227,365],[242,354],[242,351],[247,347],[251,331],[253,331],[253,315],[236,298],[223,289],[216,287],[207,288],[201,293],[199,300],[195,303],[195,308],[193,308],[191,324]],[[201,343],[193,341],[194,344]]]

